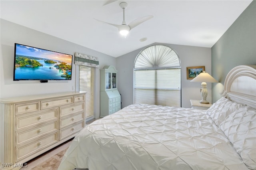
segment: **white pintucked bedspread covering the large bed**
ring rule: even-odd
[[[74,138],[59,170],[246,170],[201,110],[130,105]]]

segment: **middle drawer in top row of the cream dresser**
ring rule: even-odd
[[[58,106],[68,105],[71,103],[73,103],[73,96],[69,96],[61,99],[46,100],[46,101],[41,101],[41,109],[58,107]]]

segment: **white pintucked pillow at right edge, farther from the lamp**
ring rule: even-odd
[[[233,144],[244,164],[256,170],[256,110],[241,107],[220,124],[220,129]]]

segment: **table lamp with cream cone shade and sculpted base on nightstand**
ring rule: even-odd
[[[200,103],[208,104],[209,102],[206,100],[206,97],[208,95],[206,82],[218,83],[218,81],[216,79],[214,79],[210,74],[203,71],[198,76],[196,76],[194,79],[192,79],[190,82],[202,82],[201,83],[202,88],[200,89],[202,100],[200,101]]]

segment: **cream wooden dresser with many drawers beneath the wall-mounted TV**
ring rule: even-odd
[[[85,125],[86,92],[65,92],[1,99],[0,163],[3,169],[54,148]],[[12,166],[10,166],[12,165]]]

